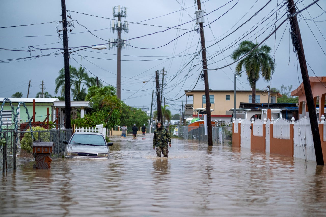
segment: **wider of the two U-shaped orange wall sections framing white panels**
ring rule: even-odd
[[[270,124],[270,153],[293,157],[293,124],[290,124],[290,139],[273,138],[273,125]]]

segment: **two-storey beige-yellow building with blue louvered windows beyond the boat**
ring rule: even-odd
[[[204,90],[185,90],[186,104],[185,115],[187,117],[193,115],[196,108],[206,108],[205,91]],[[251,91],[236,91],[236,108],[239,108],[240,102],[251,103]],[[229,121],[232,112],[229,110],[234,108],[234,91],[233,90],[210,90],[210,103],[212,120]],[[282,95],[278,92],[271,92],[270,103],[277,103],[277,97]],[[268,92],[256,91],[256,103],[268,103]]]

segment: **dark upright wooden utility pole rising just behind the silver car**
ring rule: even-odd
[[[70,74],[69,74],[70,72],[69,72],[66,0],[61,0],[61,10],[62,10],[61,12],[62,12],[63,50],[64,50],[64,60],[65,60],[66,129],[71,129]]]

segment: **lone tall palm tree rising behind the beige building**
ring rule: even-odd
[[[261,72],[261,76],[265,81],[271,80],[275,67],[272,57],[269,56],[271,50],[272,48],[267,45],[258,47],[258,43],[243,41],[240,43],[239,48],[233,51],[231,55],[233,60],[237,60],[241,56],[247,54],[246,57],[241,59],[238,65],[236,65],[235,71],[241,76],[242,67],[244,66],[247,80],[250,82],[252,88],[251,102],[256,102],[256,82],[259,79],[259,72]]]

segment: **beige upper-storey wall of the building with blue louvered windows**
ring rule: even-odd
[[[187,92],[187,91],[186,91]],[[193,107],[194,108],[206,108],[206,104],[202,103],[202,97],[205,94],[204,91],[190,91],[187,92],[188,95],[193,95]],[[249,95],[251,91],[237,91],[236,92],[236,108],[239,108],[240,102],[249,102]],[[211,104],[212,111],[211,115],[226,115],[226,111],[229,111],[234,107],[234,91],[210,91],[210,95],[214,95],[214,103]],[[230,95],[230,100],[226,100],[226,95]],[[256,95],[260,95],[260,104],[268,103],[268,93],[256,91]],[[278,93],[271,93],[271,97],[275,96],[277,103],[277,97],[281,96]],[[187,99],[189,99],[187,97]],[[271,99],[270,99],[271,102]],[[187,101],[186,104],[191,104],[192,102]]]

